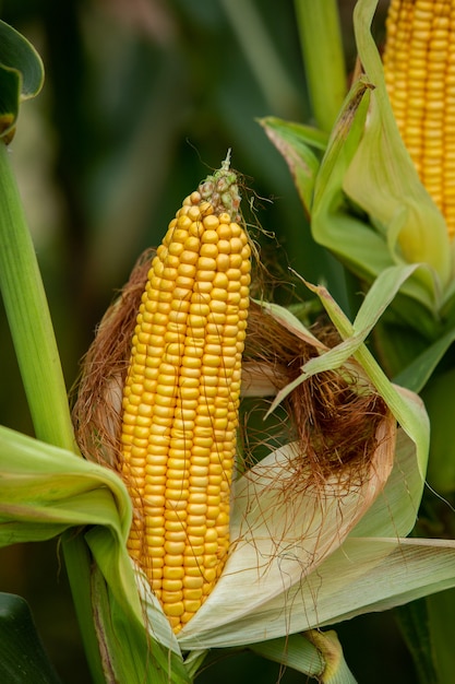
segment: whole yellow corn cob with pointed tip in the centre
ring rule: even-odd
[[[250,247],[228,160],[190,194],[158,247],[123,390],[129,552],[177,633],[229,547]]]

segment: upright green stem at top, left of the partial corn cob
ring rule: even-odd
[[[347,92],[336,0],[295,0],[313,116],[330,132]]]

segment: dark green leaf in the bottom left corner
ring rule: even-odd
[[[8,684],[60,684],[28,603],[11,593],[0,593],[0,680]]]

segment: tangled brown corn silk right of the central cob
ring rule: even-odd
[[[264,394],[275,396],[301,375],[308,361],[339,342],[336,331],[325,321],[315,323],[311,332],[313,338],[306,337],[252,303],[243,356],[243,394],[248,396],[250,386],[260,382]],[[342,368],[311,376],[283,404],[287,417],[284,431],[278,429],[278,444],[283,438],[294,438],[300,455],[294,459],[296,472],[287,481],[289,490],[323,493],[331,480],[337,483],[343,496],[362,487],[371,476],[378,475],[385,482],[393,461],[395,421],[354,359]],[[262,440],[263,433],[258,438],[259,443]],[[249,443],[247,453],[254,451],[251,435]],[[271,444],[270,448],[276,446]],[[381,473],[372,472],[378,470],[374,455],[379,449],[383,450]]]

